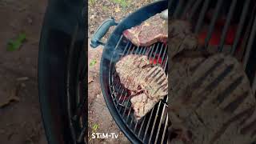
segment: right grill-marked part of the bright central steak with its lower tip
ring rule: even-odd
[[[146,77],[140,81],[142,94],[134,94],[130,99],[136,119],[146,115],[157,102],[168,94],[168,78],[162,67],[154,66],[146,71]]]

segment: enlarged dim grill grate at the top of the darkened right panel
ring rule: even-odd
[[[252,51],[255,46],[256,37],[256,2],[253,0],[170,0],[170,18],[183,18],[193,23],[194,33],[198,34],[205,26],[207,33],[204,47],[209,49],[210,38],[212,38],[216,23],[221,14],[226,14],[223,23],[220,41],[218,42],[218,52],[229,52],[233,54],[246,70],[246,74],[250,78],[253,93],[256,94],[256,70],[251,64],[250,57],[253,57]],[[206,14],[209,10],[213,10],[213,15],[206,25]],[[224,11],[224,12],[223,12]],[[232,22],[235,21],[235,22]],[[225,40],[231,24],[236,24],[234,33],[234,42],[226,48]],[[238,48],[242,49],[238,51]]]

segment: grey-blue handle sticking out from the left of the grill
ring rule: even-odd
[[[106,32],[110,29],[111,26],[117,26],[118,23],[114,21],[114,18],[108,18],[102,22],[101,26],[98,26],[98,29],[94,32],[93,37],[90,40],[90,46],[96,48],[99,45],[105,45],[105,43],[100,40],[104,37]]]

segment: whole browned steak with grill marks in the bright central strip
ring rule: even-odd
[[[160,66],[152,66],[146,56],[130,54],[115,65],[120,82],[131,91],[134,116],[140,119],[168,94],[168,81]]]

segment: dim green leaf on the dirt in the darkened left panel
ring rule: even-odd
[[[14,51],[14,50],[18,50],[23,42],[25,42],[26,40],[26,34],[21,33],[18,34],[18,37],[15,40],[10,40],[7,44],[7,51]]]

